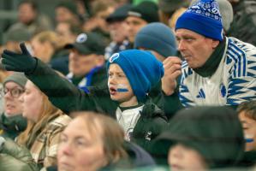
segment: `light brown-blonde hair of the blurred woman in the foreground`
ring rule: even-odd
[[[85,122],[90,134],[101,137],[104,142],[104,153],[109,164],[128,157],[123,147],[124,132],[114,119],[94,112],[77,112],[74,115]]]

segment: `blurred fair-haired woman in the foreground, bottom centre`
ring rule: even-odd
[[[112,118],[92,112],[76,115],[61,135],[58,170],[112,170],[154,164],[146,151],[124,141],[122,127]]]

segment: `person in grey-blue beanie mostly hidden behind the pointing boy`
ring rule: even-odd
[[[153,22],[147,24],[146,27],[142,27],[140,32],[137,33],[134,41],[134,48],[140,50],[150,50],[154,56],[160,62],[164,62],[164,65],[168,63],[169,56],[177,55],[176,38],[174,33],[170,30],[170,27],[165,26],[159,22]],[[180,103],[178,97],[178,91],[172,93],[165,92],[164,81],[168,81],[164,75],[162,83],[159,82],[158,86],[154,87],[150,93],[152,99],[155,99],[158,89],[164,92],[164,113],[170,119],[178,109],[182,109],[182,103]],[[162,87],[161,87],[162,86]],[[161,93],[161,92],[160,92]],[[155,100],[157,101],[157,99]]]

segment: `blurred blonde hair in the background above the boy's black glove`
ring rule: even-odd
[[[53,31],[39,32],[33,39],[38,40],[41,44],[49,42],[54,50],[58,50],[63,46],[62,42],[59,41],[57,33]]]

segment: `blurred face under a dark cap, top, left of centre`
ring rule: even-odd
[[[58,7],[55,9],[56,21],[72,21],[74,20],[74,15],[66,8]]]

